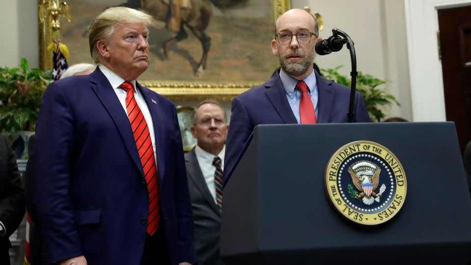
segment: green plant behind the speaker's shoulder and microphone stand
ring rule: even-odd
[[[333,69],[321,69],[321,72],[326,79],[334,80],[339,84],[350,87],[351,79],[339,74],[339,69],[341,67],[343,67],[343,65],[337,66]],[[368,110],[371,121],[380,122],[385,117],[380,106],[390,106],[392,104],[400,106],[394,96],[386,93],[384,89],[378,87],[386,82],[386,80],[377,79],[371,75],[363,74],[361,71],[358,71],[356,88],[365,100],[366,109]]]

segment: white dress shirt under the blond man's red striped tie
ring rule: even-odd
[[[124,113],[126,113],[126,116],[128,116],[128,111],[126,110],[127,92],[124,89],[119,87],[126,80],[116,75],[113,71],[111,71],[109,68],[107,68],[105,65],[101,63],[98,65],[98,68],[100,68],[102,73],[105,75],[106,79],[108,79],[109,83],[111,84],[111,87],[114,89],[114,93],[116,93],[116,96],[119,99],[119,102],[123,106]],[[149,128],[149,134],[152,141],[152,148],[154,149],[154,159],[156,159],[156,165],[157,165],[156,135],[154,133],[154,123],[152,122],[151,112],[149,111],[149,107],[147,106],[145,99],[142,97],[141,91],[139,91],[139,89],[136,88],[136,80],[134,79],[134,80],[131,80],[130,82],[132,83],[132,86],[134,89],[134,98],[136,99],[137,106],[139,106],[139,108],[141,109],[141,112],[144,115],[144,119],[147,122],[147,127]]]

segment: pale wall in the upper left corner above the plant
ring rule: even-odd
[[[39,67],[37,0],[3,0],[0,8],[0,66],[16,67],[25,57]]]

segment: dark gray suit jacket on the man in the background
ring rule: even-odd
[[[193,208],[196,262],[198,265],[224,265],[219,255],[221,212],[209,193],[195,149],[185,154],[185,166]]]

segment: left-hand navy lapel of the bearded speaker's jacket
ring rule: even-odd
[[[289,106],[288,99],[286,98],[285,88],[281,82],[279,73],[277,72],[272,79],[265,83],[265,94],[271,102],[276,112],[280,115],[286,124],[296,124],[296,117]]]

